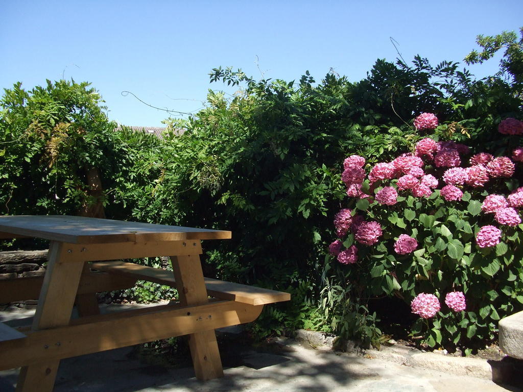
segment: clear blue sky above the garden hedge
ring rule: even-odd
[[[212,68],[248,75],[320,80],[331,67],[356,81],[376,59],[415,54],[432,64],[462,61],[477,34],[517,31],[522,0],[428,1],[167,1],[0,0],[0,88],[26,89],[46,79],[87,80],[101,93],[109,118],[162,126],[153,106],[195,112]],[[493,74],[498,61],[470,67]]]

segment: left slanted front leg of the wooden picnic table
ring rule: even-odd
[[[78,282],[84,263],[74,260],[67,251],[67,244],[52,241],[49,247],[49,262],[43,279],[32,329],[47,329],[69,324]],[[21,368],[16,386],[17,392],[50,392],[60,361],[24,366]]]

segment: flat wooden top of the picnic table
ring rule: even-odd
[[[69,215],[0,216],[0,232],[71,244],[228,239],[231,232]]]

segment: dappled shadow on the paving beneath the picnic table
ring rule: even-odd
[[[134,392],[134,391],[332,391],[374,373],[347,368],[347,360],[321,352],[308,351],[307,359],[287,350],[280,353],[256,351],[251,347],[222,351],[225,376],[208,382],[195,378],[187,367],[151,364],[137,358],[135,347],[82,355],[61,361],[55,392]],[[300,358],[298,358],[300,357]],[[339,359],[334,360],[333,359]],[[360,359],[352,358],[354,364]],[[360,366],[365,369],[365,366]],[[0,390],[14,391],[18,370],[0,372]],[[420,389],[423,390],[423,389]]]

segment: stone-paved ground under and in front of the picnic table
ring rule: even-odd
[[[12,314],[0,313],[0,319],[7,318],[12,318]],[[450,369],[438,372],[356,354],[313,350],[293,340],[281,341],[278,347],[272,353],[241,345],[227,349],[222,355],[225,376],[205,383],[196,380],[191,367],[147,364],[135,355],[133,348],[83,355],[61,362],[55,391],[522,391],[485,378],[453,375]],[[18,370],[0,372],[0,391],[14,391],[17,374]]]

